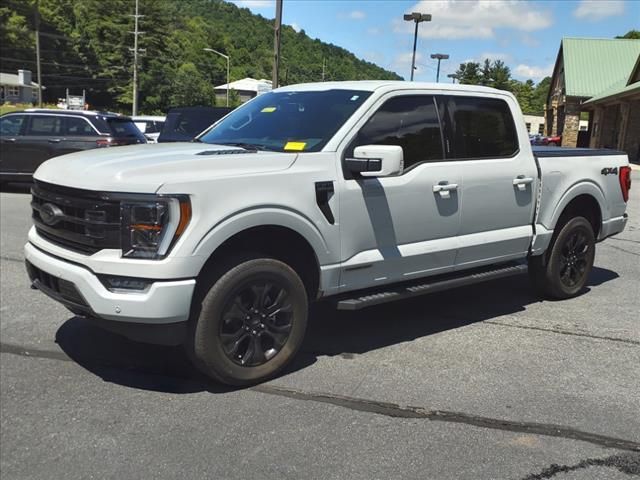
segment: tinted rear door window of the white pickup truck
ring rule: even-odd
[[[447,103],[453,129],[451,157],[504,158],[518,151],[518,136],[507,102],[452,96]]]

